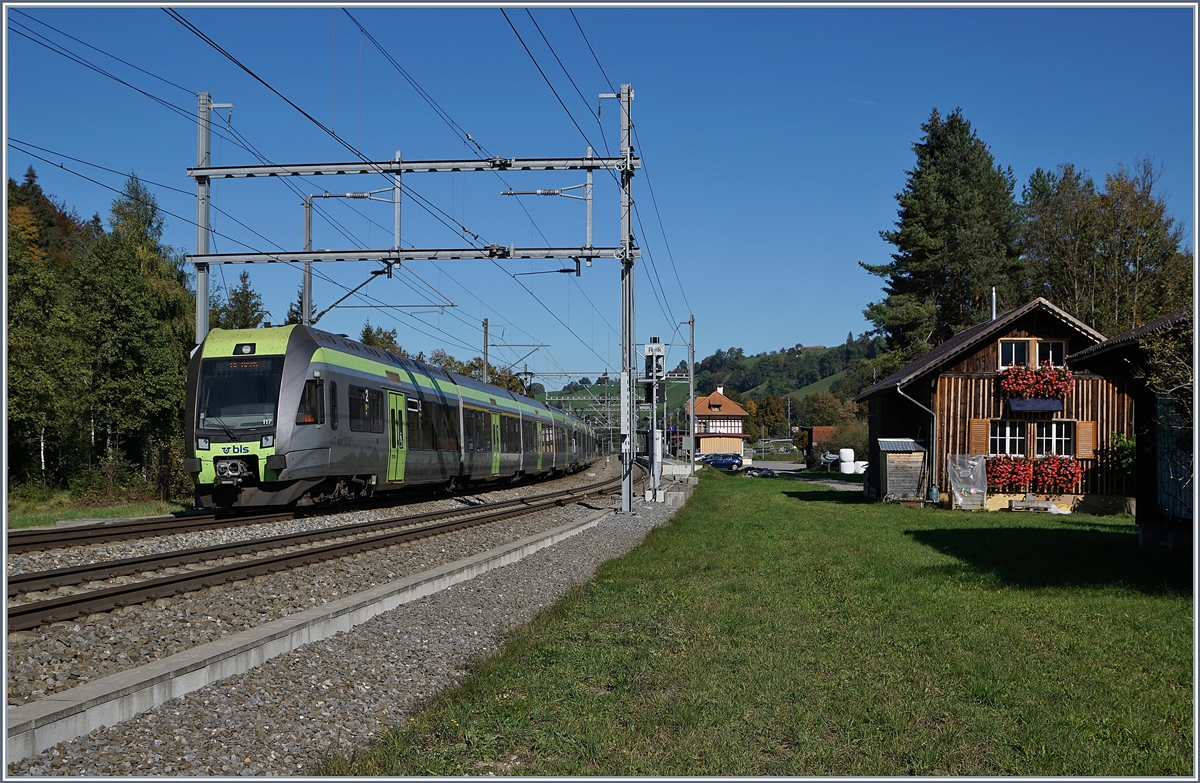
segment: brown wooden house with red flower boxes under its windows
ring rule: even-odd
[[[1105,459],[1112,434],[1134,434],[1127,378],[1067,366],[1104,335],[1038,298],[965,329],[864,390],[865,492],[884,498],[881,440],[924,452],[920,494],[950,489],[950,459],[984,456],[986,508],[1033,492],[1056,504],[1118,512],[1132,488]],[[955,459],[961,465],[960,459]]]

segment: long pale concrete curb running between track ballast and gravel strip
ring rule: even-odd
[[[599,525],[611,513],[611,509],[600,509],[583,520],[280,617],[136,669],[118,671],[61,694],[8,707],[6,761],[25,759],[59,742],[128,721],[172,699],[248,671],[275,656],[349,630],[403,603],[515,563]]]

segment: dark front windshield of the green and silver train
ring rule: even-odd
[[[253,430],[275,426],[283,357],[204,359],[197,428]]]

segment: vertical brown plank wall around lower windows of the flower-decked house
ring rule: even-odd
[[[1114,432],[1127,437],[1134,434],[1133,398],[1124,382],[1111,382],[1100,376],[1075,373],[1070,394],[1063,400],[1061,413],[1012,413],[998,394],[996,373],[944,373],[937,379],[934,405],[937,413],[937,480],[948,488],[947,456],[968,454],[967,438],[971,419],[1016,419],[1030,422],[1027,438],[1037,437],[1034,422],[1067,419],[1096,422],[1097,459],[1084,460],[1084,494],[1124,495],[1133,491],[1116,476],[1104,459]],[[1032,443],[1031,443],[1032,446]]]

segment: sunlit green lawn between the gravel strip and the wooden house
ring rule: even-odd
[[[704,471],[470,679],[326,775],[1189,776],[1190,562],[1105,518]]]

